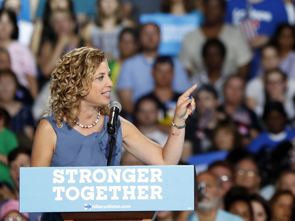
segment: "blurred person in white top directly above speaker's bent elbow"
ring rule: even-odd
[[[148,97],[139,99],[135,104],[134,116],[139,131],[163,147],[168,134],[158,129],[158,103]]]

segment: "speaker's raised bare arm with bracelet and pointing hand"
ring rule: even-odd
[[[195,100],[190,93],[196,89],[192,86],[177,101],[173,122],[183,126],[189,114],[194,113]],[[137,159],[147,165],[176,165],[183,150],[185,128],[178,129],[171,125],[169,137],[164,148],[145,137],[133,124],[121,118],[123,147]]]

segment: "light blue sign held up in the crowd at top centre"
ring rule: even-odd
[[[161,30],[161,55],[177,56],[182,40],[190,31],[200,26],[200,16],[197,14],[172,15],[168,13],[142,14],[140,23],[153,22]]]

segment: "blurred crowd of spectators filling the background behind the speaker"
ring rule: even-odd
[[[191,85],[180,164],[196,165],[199,207],[158,221],[295,221],[295,1],[0,1],[0,221],[19,213],[19,167],[49,109],[59,57],[105,52],[110,101],[164,145]],[[122,150],[121,165],[142,165]]]

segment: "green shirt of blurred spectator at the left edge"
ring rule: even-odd
[[[4,127],[0,132],[0,154],[8,156],[9,153],[17,146],[18,142],[16,136],[13,134],[13,132]],[[13,181],[10,178],[8,166],[0,162],[0,182],[3,181],[8,182],[13,186]]]

